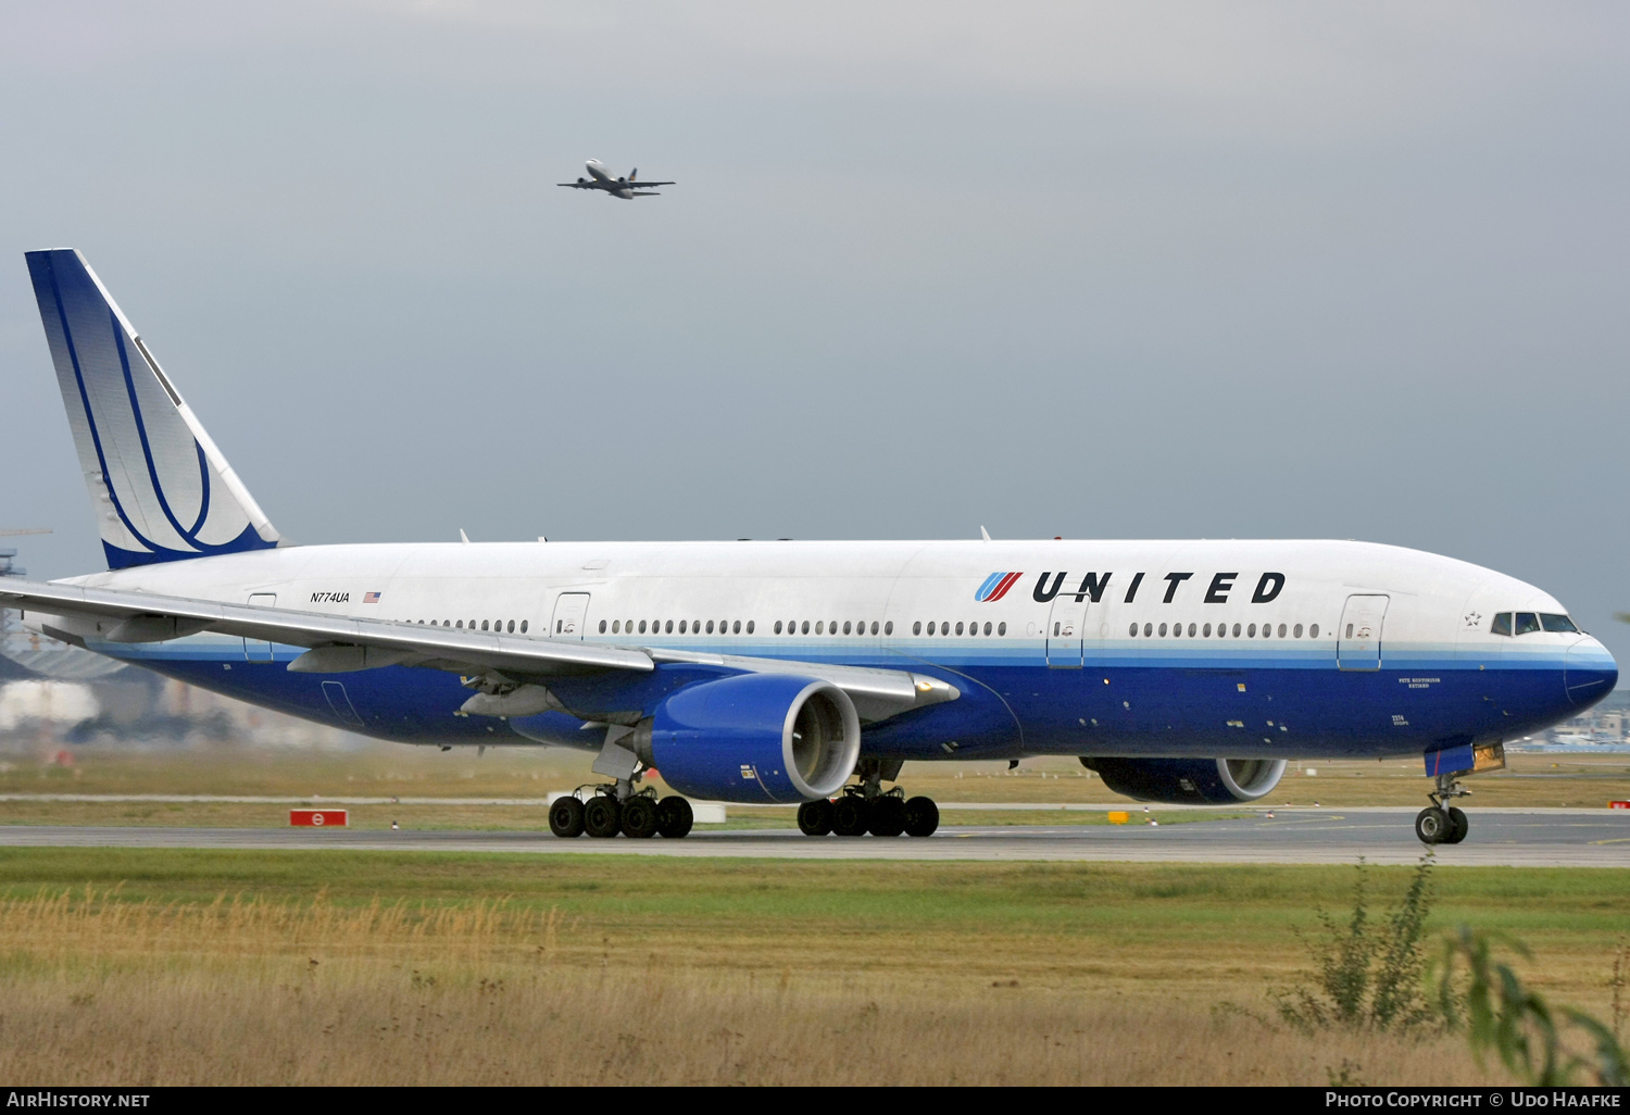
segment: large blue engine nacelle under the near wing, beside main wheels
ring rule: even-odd
[[[691,685],[650,721],[650,765],[681,794],[725,802],[831,797],[861,756],[861,717],[830,681],[743,673]]]

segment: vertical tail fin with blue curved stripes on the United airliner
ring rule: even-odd
[[[72,248],[31,251],[39,316],[109,569],[282,540]]]

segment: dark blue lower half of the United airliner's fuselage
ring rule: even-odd
[[[401,743],[598,748],[603,740],[603,732],[561,712],[513,721],[456,716],[469,690],[438,670],[290,673],[285,667],[300,647],[275,647],[271,662],[231,655],[220,644],[117,652],[205,690]],[[1338,670],[1333,660],[1307,655],[1089,660],[1071,668],[1012,654],[998,662],[967,655],[947,663],[885,652],[843,662],[910,668],[958,688],[957,701],[866,725],[867,755],[911,760],[1418,755],[1529,735],[1589,707],[1617,680],[1607,665],[1565,672],[1557,660],[1488,668],[1431,657],[1384,659],[1379,670]],[[732,670],[663,663],[650,673],[553,678],[549,688],[575,709],[649,712],[667,693],[727,673]]]

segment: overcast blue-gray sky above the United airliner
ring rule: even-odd
[[[73,246],[300,541],[1366,538],[1630,659],[1627,55],[1623,3],[8,3],[0,525],[101,567],[21,259]]]

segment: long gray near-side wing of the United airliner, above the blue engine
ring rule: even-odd
[[[62,634],[75,641],[165,642],[202,631],[311,647],[289,663],[300,673],[344,673],[414,665],[458,673],[500,670],[518,678],[603,672],[644,673],[662,662],[714,665],[738,673],[799,673],[831,681],[849,694],[866,721],[955,701],[955,686],[908,670],[874,670],[826,662],[750,659],[688,650],[611,647],[530,636],[430,628],[390,619],[357,619],[292,608],[163,597],[147,592],[0,580],[0,603],[73,621]]]

